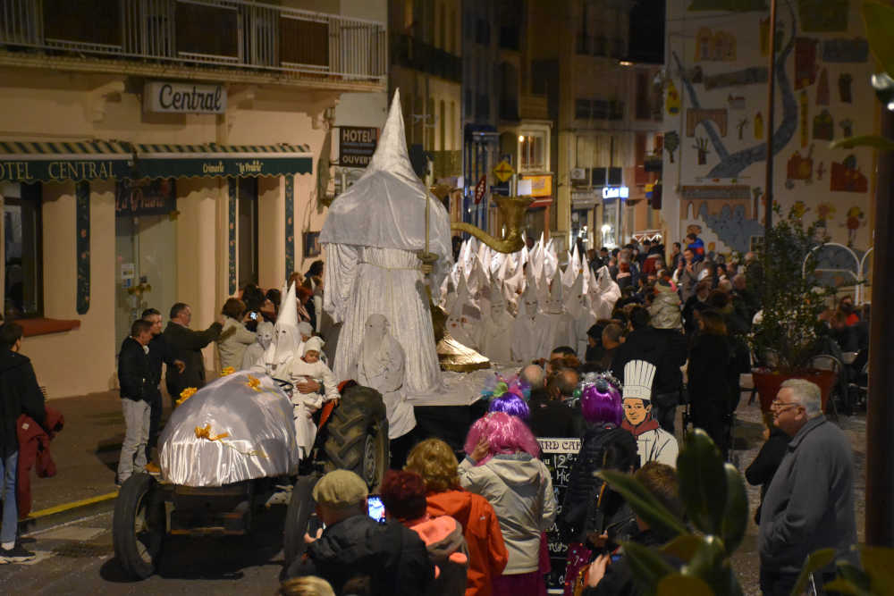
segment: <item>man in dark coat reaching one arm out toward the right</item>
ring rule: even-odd
[[[202,348],[215,341],[223,329],[223,325],[215,321],[204,332],[195,332],[190,329],[191,320],[190,306],[178,302],[171,306],[171,320],[164,328],[164,341],[173,357],[186,365],[182,373],[168,369],[165,384],[172,402],[180,399],[180,392],[187,387],[201,389],[205,386],[205,358],[202,357]]]

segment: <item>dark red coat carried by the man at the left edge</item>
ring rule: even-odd
[[[49,478],[55,476],[56,468],[50,455],[50,441],[56,432],[62,430],[65,418],[55,407],[46,407],[46,428],[34,422],[30,416],[22,414],[16,421],[16,434],[19,439],[19,485],[16,490],[16,501],[19,504],[19,519],[24,519],[31,512],[31,468],[37,465],[38,476]]]

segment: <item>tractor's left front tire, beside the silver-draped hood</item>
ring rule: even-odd
[[[112,518],[114,555],[134,579],[146,579],[156,571],[164,542],[164,499],[156,479],[133,474],[118,492]]]

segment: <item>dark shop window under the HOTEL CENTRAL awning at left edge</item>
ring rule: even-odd
[[[40,184],[5,184],[4,313],[7,319],[43,315],[43,238]]]

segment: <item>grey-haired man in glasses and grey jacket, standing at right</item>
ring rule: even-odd
[[[761,508],[758,542],[765,596],[789,594],[814,550],[833,548],[836,559],[856,563],[850,552],[856,544],[856,517],[848,438],[822,415],[820,388],[812,382],[783,382],[772,411],[775,424],[792,439]],[[827,583],[834,575],[830,565],[814,578]]]

